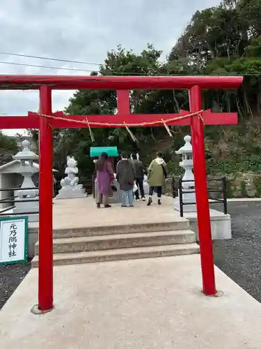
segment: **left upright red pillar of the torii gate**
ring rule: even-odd
[[[40,87],[40,114],[52,115],[52,89],[46,85]],[[39,154],[39,207],[44,207],[39,214],[39,255],[45,258],[39,258],[38,308],[45,312],[53,308],[53,131],[47,117],[40,117]]]

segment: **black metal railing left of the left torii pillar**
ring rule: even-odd
[[[10,188],[0,188],[0,191],[29,191],[29,190],[33,190],[34,188],[21,188],[19,187],[10,187]],[[18,196],[17,195],[12,195],[9,196],[8,198],[3,198],[0,200],[0,204],[13,204],[10,205],[8,207],[4,207],[3,209],[0,209],[0,216],[20,216],[20,215],[24,215],[24,214],[38,214],[39,211],[25,211],[25,212],[20,212],[20,213],[13,213],[13,212],[7,212],[10,211],[11,209],[15,208],[15,202],[35,202],[37,200],[35,199],[27,199],[23,200],[23,199],[19,199],[17,200]]]

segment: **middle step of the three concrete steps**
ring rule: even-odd
[[[109,250],[171,244],[190,244],[196,241],[191,230],[173,230],[164,232],[134,232],[129,234],[102,235],[94,237],[70,237],[54,239],[54,253]],[[35,244],[35,255],[39,243]]]

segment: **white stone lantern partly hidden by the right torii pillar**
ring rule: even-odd
[[[182,201],[186,204],[191,202],[192,205],[184,205],[184,212],[196,211],[196,194],[195,194],[195,181],[193,174],[193,152],[191,145],[191,136],[186,135],[184,137],[185,144],[179,150],[175,151],[177,155],[182,156],[182,161],[180,161],[180,167],[184,169],[184,175],[182,177],[182,189],[186,193],[182,194]],[[180,192],[178,197],[175,198],[174,208],[180,211]]]

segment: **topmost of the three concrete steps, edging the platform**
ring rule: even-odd
[[[157,223],[133,223],[126,225],[105,225],[83,228],[54,229],[54,239],[68,237],[91,237],[96,235],[129,234],[132,232],[160,232],[189,229],[189,221],[182,217],[175,217],[175,221]]]

